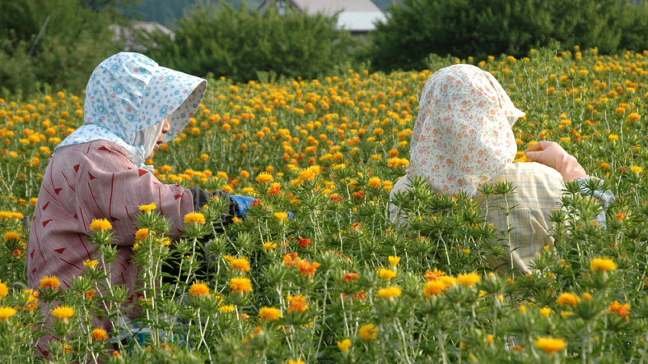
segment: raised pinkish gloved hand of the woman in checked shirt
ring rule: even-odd
[[[562,175],[565,182],[588,177],[583,167],[557,142],[540,141],[533,144],[524,152],[531,161],[549,166]]]

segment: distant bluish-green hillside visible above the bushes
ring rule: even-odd
[[[176,27],[176,21],[184,15],[184,10],[191,9],[196,3],[202,0],[141,0],[139,6],[129,10],[130,13],[139,13],[139,17],[144,21],[157,21],[167,27]],[[241,3],[245,1],[249,8],[257,8],[263,0],[226,0],[235,8],[240,8]],[[385,10],[391,6],[392,1],[397,3],[400,0],[372,0],[379,8]],[[204,1],[203,1],[204,2]],[[213,1],[216,3],[217,1]]]

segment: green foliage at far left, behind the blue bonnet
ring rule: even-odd
[[[93,10],[79,0],[1,2],[3,93],[30,94],[41,84],[82,90],[97,64],[119,51],[108,28],[115,14],[108,5]],[[48,16],[49,23],[35,43]]]

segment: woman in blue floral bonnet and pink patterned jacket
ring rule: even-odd
[[[213,196],[200,188],[165,185],[144,165],[160,144],[185,128],[206,87],[202,78],[137,53],[115,54],[98,65],[86,88],[86,124],[55,148],[43,176],[27,245],[30,288],[47,276],[67,287],[81,275],[84,261],[97,258],[86,240],[89,225],[105,218],[119,245],[112,283],[126,285],[130,301],[137,299],[139,270],[131,255],[139,206],[156,203],[172,223],[170,237],[177,238],[183,216]],[[230,214],[238,208],[232,199]],[[47,356],[46,348],[39,348]]]

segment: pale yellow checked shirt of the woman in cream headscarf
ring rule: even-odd
[[[486,223],[492,223],[494,229],[506,231],[507,226],[513,227],[510,233],[510,250],[507,249],[507,259],[496,262],[491,258],[491,269],[508,267],[513,262],[513,267],[522,273],[531,269],[531,260],[540,253],[545,245],[553,246],[553,238],[550,235],[555,223],[549,221],[551,212],[560,209],[562,189],[564,183],[562,176],[553,168],[538,163],[513,163],[501,174],[489,181],[492,185],[503,181],[509,181],[516,187],[515,192],[507,195],[508,206],[514,207],[507,217],[507,201],[501,196],[491,196],[488,201],[488,209],[482,194],[477,194],[474,199],[481,203],[481,209],[486,218]],[[402,177],[394,185],[391,194],[402,192],[409,187],[408,177]],[[398,218],[398,207],[390,205],[391,221]],[[502,241],[503,245],[509,245],[507,236]]]

